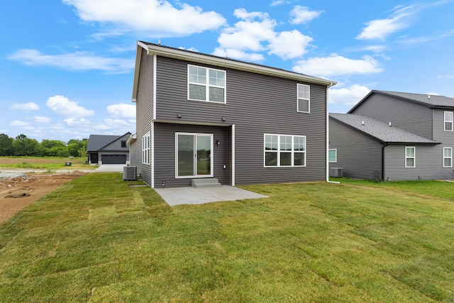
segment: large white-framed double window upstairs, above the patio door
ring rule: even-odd
[[[190,100],[226,103],[226,71],[188,65],[187,96]]]

